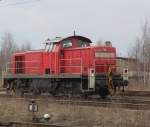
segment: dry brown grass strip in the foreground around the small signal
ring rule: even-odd
[[[39,112],[53,114],[51,123],[86,127],[149,127],[150,111],[131,111],[115,108],[84,107],[38,102]],[[30,121],[28,102],[0,99],[0,120]]]

